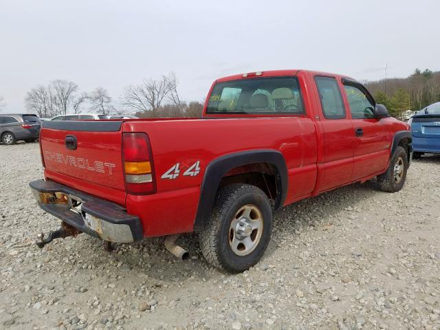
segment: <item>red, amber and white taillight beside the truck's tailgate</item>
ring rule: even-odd
[[[150,140],[145,133],[122,133],[122,161],[129,194],[156,192]]]

